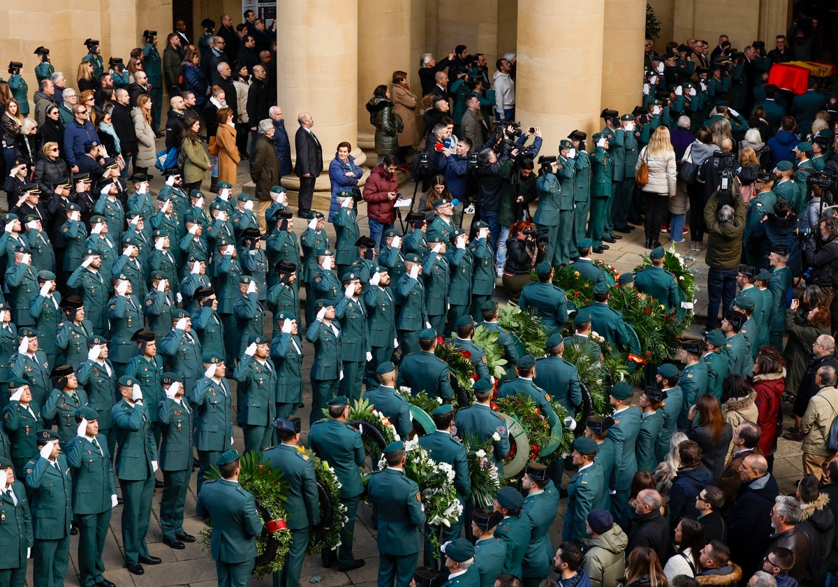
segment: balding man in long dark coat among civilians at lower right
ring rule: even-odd
[[[763,554],[771,542],[771,508],[780,491],[761,455],[745,457],[741,477],[746,485],[727,521],[727,544],[731,560],[742,567],[742,576],[750,577],[762,568]]]

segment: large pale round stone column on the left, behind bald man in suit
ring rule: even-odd
[[[324,169],[317,190],[328,190],[328,163],[341,141],[358,136],[358,0],[279,0],[282,28],[277,34],[277,103],[282,106],[292,158],[297,116],[310,112],[313,132],[323,145]],[[294,190],[296,175],[282,178]],[[314,208],[322,209],[315,203]]]

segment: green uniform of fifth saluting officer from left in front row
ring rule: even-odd
[[[172,540],[184,533],[184,502],[192,478],[192,429],[194,412],[185,397],[165,397],[158,403],[162,434],[160,469],[163,495],[160,498],[160,527],[163,538]]]

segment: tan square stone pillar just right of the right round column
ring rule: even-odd
[[[645,0],[605,0],[603,108],[621,114],[641,101]]]

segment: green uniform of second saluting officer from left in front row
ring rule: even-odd
[[[36,585],[60,587],[70,563],[70,520],[73,518],[72,480],[65,455],[56,460],[38,456],[26,466],[26,485],[32,491],[33,580]]]

